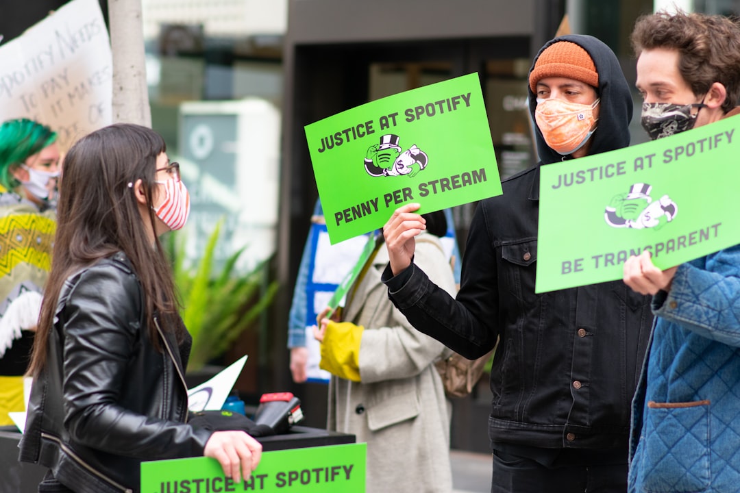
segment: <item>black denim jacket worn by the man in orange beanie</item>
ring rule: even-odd
[[[489,436],[542,448],[625,447],[653,315],[624,282],[534,293],[539,166],[477,206],[457,299],[414,266],[383,282],[414,327],[468,358],[499,347]]]

